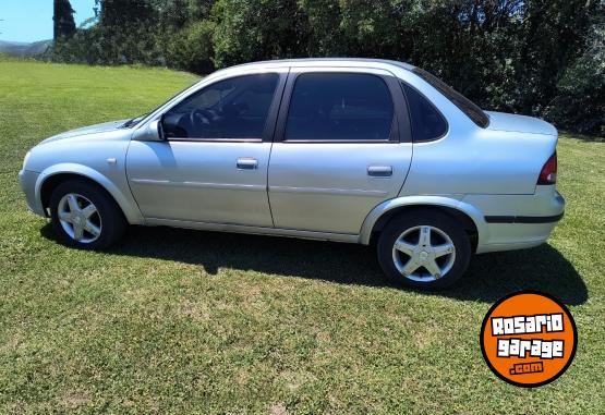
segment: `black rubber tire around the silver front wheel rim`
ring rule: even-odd
[[[74,240],[59,220],[59,203],[66,194],[84,196],[95,205],[97,220],[100,219],[100,234],[95,241],[80,242]],[[59,184],[50,196],[50,218],[58,240],[69,246],[83,249],[105,249],[118,242],[124,234],[126,220],[122,210],[107,191],[97,184],[84,180],[69,180]],[[93,235],[90,235],[93,237]]]

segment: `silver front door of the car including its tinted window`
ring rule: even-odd
[[[273,227],[267,169],[286,72],[213,83],[165,113],[165,141],[132,141],[126,174],[145,218]]]

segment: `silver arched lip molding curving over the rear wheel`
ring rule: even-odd
[[[462,195],[460,195],[460,197]],[[413,206],[448,207],[465,213],[469,218],[472,219],[479,233],[477,251],[480,251],[479,247],[489,239],[489,231],[487,229],[487,223],[485,222],[483,215],[472,205],[447,196],[403,196],[385,200],[376,206],[374,209],[372,209],[372,211],[365,217],[365,220],[363,221],[359,242],[364,245],[367,245],[370,243],[374,225],[376,224],[378,219],[380,219],[380,217],[386,212],[400,207]]]

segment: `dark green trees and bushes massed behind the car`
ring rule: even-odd
[[[480,106],[605,134],[603,0],[100,0],[58,61],[195,73],[264,59],[407,61]]]

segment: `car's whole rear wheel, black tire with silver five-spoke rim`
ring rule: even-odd
[[[377,249],[378,263],[390,281],[420,290],[452,285],[471,258],[464,229],[438,210],[394,218],[382,232]]]

